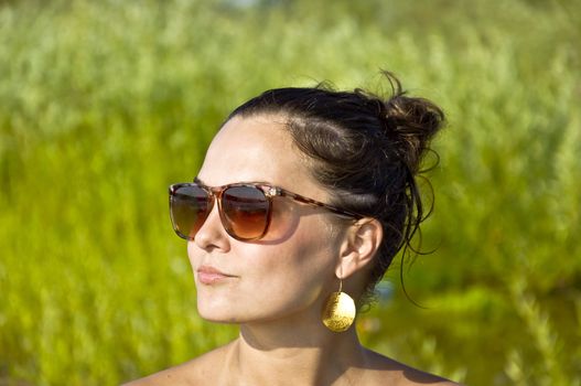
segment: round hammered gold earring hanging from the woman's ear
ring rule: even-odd
[[[338,280],[338,291],[331,293],[321,314],[323,324],[333,332],[346,331],[355,320],[355,302],[343,292],[343,280]]]

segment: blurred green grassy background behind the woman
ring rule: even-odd
[[[441,105],[423,248],[363,341],[467,385],[581,385],[581,1],[0,1],[0,385],[116,385],[202,321],[168,185],[257,93]],[[433,161],[433,160],[432,160]]]

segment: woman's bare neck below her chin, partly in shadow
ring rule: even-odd
[[[331,385],[356,377],[365,364],[354,326],[333,333],[323,326],[243,325],[230,347],[226,368],[241,385]]]

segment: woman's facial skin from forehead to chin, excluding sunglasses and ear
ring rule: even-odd
[[[209,186],[266,182],[330,202],[281,122],[282,118],[272,116],[230,119],[212,141],[198,179]],[[259,240],[228,236],[214,205],[195,239],[189,242],[197,308],[204,319],[314,320],[324,298],[337,289],[342,233],[331,225],[333,215],[288,197],[273,200],[269,230]]]

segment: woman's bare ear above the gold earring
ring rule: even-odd
[[[341,245],[337,278],[345,279],[369,265],[383,237],[381,223],[376,218],[362,218],[351,225]]]

